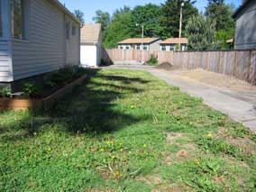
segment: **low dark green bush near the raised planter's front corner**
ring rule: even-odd
[[[23,94],[28,97],[38,97],[42,94],[42,87],[32,82],[23,84]]]

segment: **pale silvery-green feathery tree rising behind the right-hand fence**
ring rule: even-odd
[[[215,21],[206,19],[203,15],[191,17],[187,21],[185,35],[188,39],[188,50],[216,49]]]

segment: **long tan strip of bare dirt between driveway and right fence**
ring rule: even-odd
[[[175,74],[181,78],[197,80],[214,87],[226,87],[242,91],[256,91],[256,86],[251,86],[251,84],[246,81],[204,69],[180,70]]]

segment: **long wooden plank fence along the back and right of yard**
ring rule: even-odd
[[[202,68],[256,85],[256,50],[143,50],[143,61],[150,59],[151,54],[158,57],[159,63],[169,62],[183,69]],[[103,50],[102,57],[112,62],[142,61],[142,50]]]

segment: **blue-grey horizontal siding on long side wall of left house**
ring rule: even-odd
[[[74,52],[78,50],[79,38],[75,41],[70,36],[66,47],[68,15],[48,0],[28,2],[27,41],[12,41],[14,80],[50,72],[68,63],[78,64],[79,53]]]

